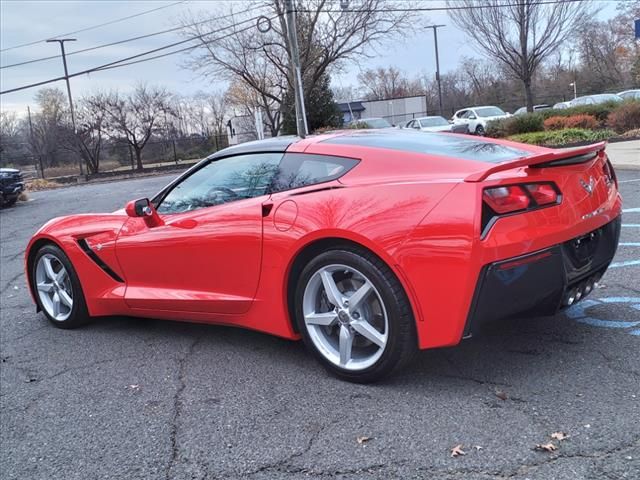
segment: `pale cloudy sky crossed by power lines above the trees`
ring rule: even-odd
[[[295,0],[294,0],[295,1]],[[441,7],[441,0],[413,0],[421,6]],[[595,0],[593,0],[595,1]],[[601,19],[615,15],[615,0],[598,1],[602,6]],[[137,37],[178,25],[184,15],[196,13],[198,17],[223,15],[230,6],[246,8],[254,12],[256,3],[239,0],[0,0],[0,66],[29,61],[60,53],[57,43],[46,43],[47,38],[78,30],[82,32],[68,35],[75,42],[66,43],[67,53],[106,43]],[[154,10],[150,13],[143,12]],[[128,20],[123,17],[138,15]],[[421,14],[426,23],[444,24],[438,29],[440,69],[447,72],[455,69],[462,57],[479,57],[473,48],[473,41],[460,31],[446,12]],[[98,24],[114,22],[98,28]],[[170,32],[120,45],[105,47],[91,52],[67,56],[69,72],[78,72],[109,63],[140,52],[158,48],[181,40],[179,32]],[[27,43],[33,45],[20,46]],[[20,46],[19,48],[12,48]],[[184,67],[185,57],[181,54],[162,59],[126,66],[112,70],[94,72],[71,79],[73,96],[82,96],[96,90],[120,89],[126,91],[138,82],[166,86],[182,94],[198,91],[223,90],[225,82],[199,77]],[[332,76],[336,87],[357,85],[358,73],[366,68],[396,66],[408,75],[435,72],[435,54],[431,29],[419,30],[404,38],[385,42],[372,52],[372,58],[347,65],[340,74]],[[54,58],[28,65],[2,68],[0,70],[0,90],[56,78],[64,74],[61,59]],[[65,89],[63,81],[48,86]],[[38,89],[32,88],[0,97],[1,110],[13,110],[19,115],[26,113],[27,106],[35,107],[33,97]]]

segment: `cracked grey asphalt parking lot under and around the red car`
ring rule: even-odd
[[[640,478],[640,171],[618,176],[622,243],[589,303],[421,352],[368,386],[328,376],[301,343],[245,330],[50,326],[26,289],[28,238],[171,177],[32,194],[0,213],[0,477]],[[568,438],[535,450],[554,432]],[[466,455],[451,457],[459,444]]]

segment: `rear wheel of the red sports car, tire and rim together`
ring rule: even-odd
[[[295,308],[307,347],[345,380],[379,380],[416,350],[402,285],[369,252],[336,249],[316,256],[301,273]]]

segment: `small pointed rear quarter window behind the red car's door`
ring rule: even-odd
[[[353,158],[286,153],[271,190],[282,192],[340,178],[358,163]]]

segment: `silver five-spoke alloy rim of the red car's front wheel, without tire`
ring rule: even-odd
[[[62,262],[50,253],[38,259],[36,288],[42,308],[55,320],[65,321],[73,310],[73,287],[69,272]]]

